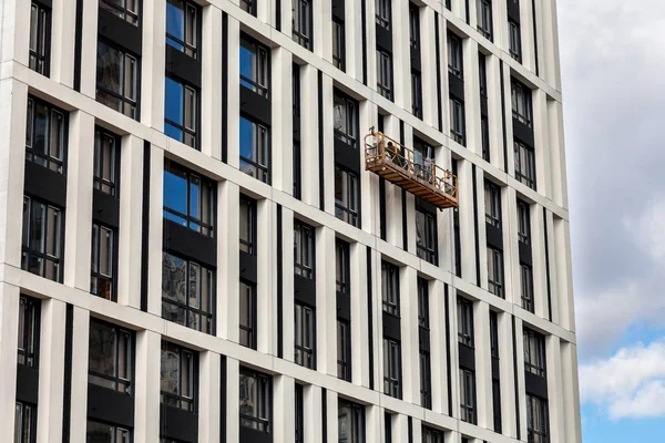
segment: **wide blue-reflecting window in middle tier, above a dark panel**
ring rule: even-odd
[[[216,184],[166,161],[164,166],[164,218],[213,236]]]

